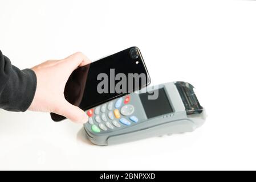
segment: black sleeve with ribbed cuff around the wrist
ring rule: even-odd
[[[0,51],[0,108],[26,111],[35,95],[36,75],[31,69],[20,70]]]

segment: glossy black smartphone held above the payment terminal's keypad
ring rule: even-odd
[[[83,110],[140,90],[151,79],[140,49],[131,47],[75,69],[68,78],[64,96]],[[65,119],[51,113],[52,120]]]

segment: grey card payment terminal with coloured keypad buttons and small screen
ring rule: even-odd
[[[86,113],[87,138],[100,146],[190,132],[206,119],[194,87],[180,81],[148,86]]]

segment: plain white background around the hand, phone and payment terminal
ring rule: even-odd
[[[255,1],[0,2],[17,67],[141,49],[153,84],[187,81],[208,111],[193,133],[99,147],[82,125],[0,110],[0,169],[256,169]]]

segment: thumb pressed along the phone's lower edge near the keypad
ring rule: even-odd
[[[86,123],[88,121],[88,115],[80,109],[78,106],[70,104],[68,101],[63,101],[56,114],[63,115],[75,123]]]

